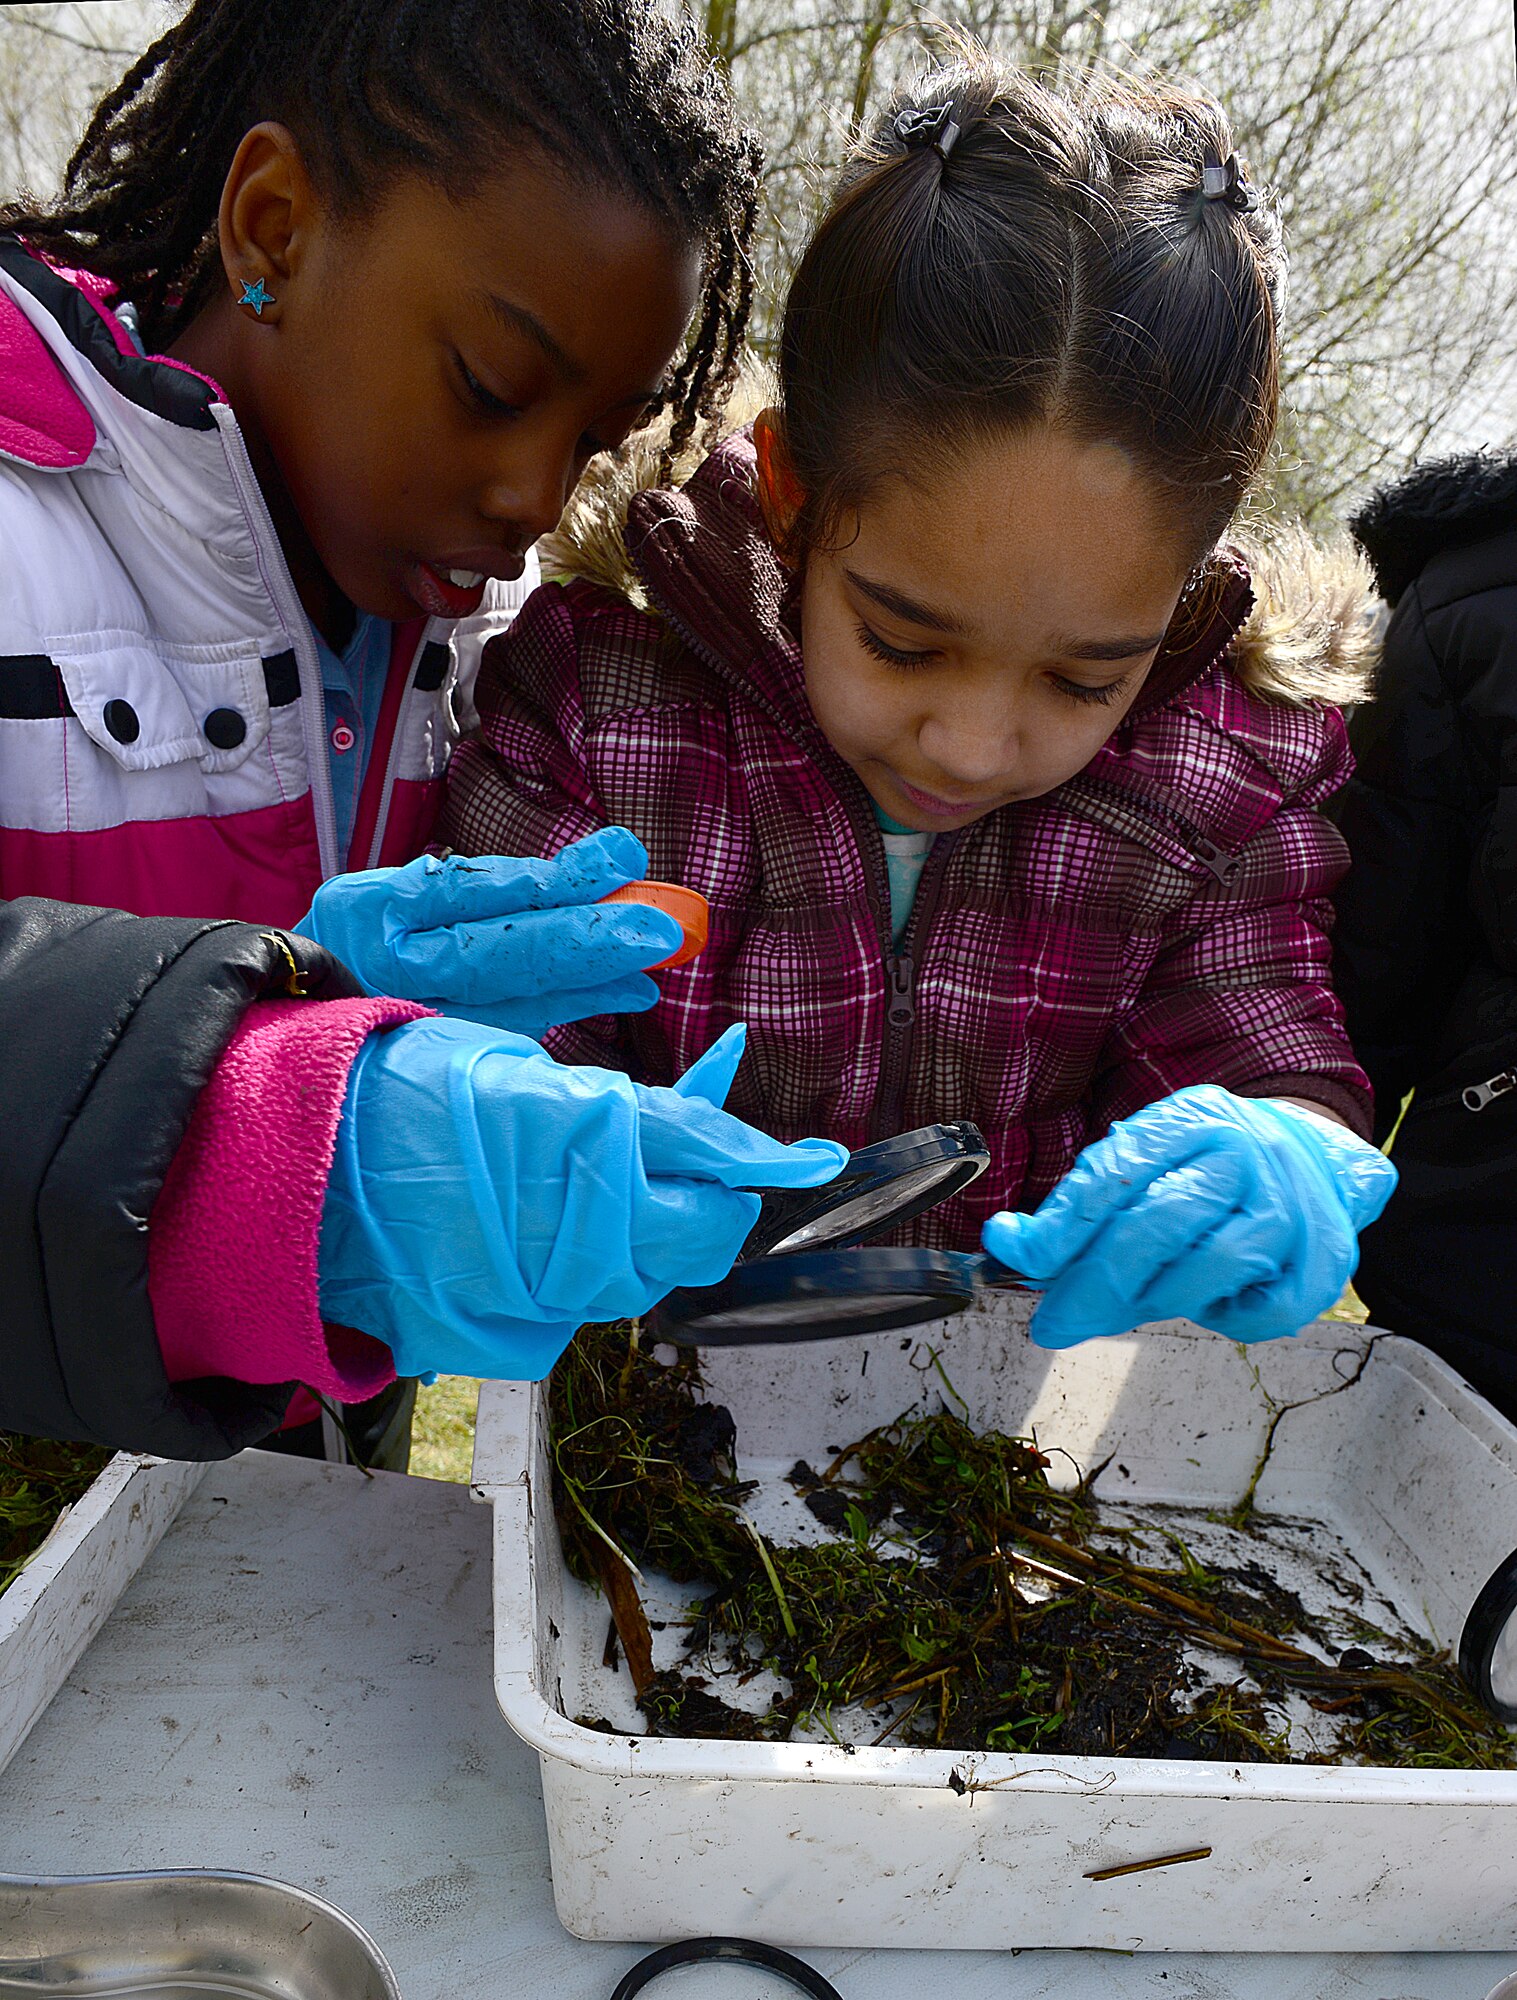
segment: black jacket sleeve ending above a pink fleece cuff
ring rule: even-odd
[[[358,990],[286,932],[0,902],[0,1428],[166,1458],[278,1428],[292,1382],[168,1382],[148,1216],[244,1010]]]

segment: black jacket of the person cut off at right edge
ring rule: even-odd
[[[1425,466],[1355,534],[1393,612],[1329,808],[1335,978],[1381,1138],[1417,1092],[1355,1284],[1517,1414],[1517,454]]]

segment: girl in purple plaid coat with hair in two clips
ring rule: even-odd
[[[1275,428],[1279,224],[1223,112],[967,48],[857,144],[779,398],[670,490],[574,504],[490,644],[444,838],[604,820],[712,906],[550,1046],[859,1144],[975,1120],[911,1224],[1063,1346],[1333,1306],[1393,1174],[1329,980],[1359,572],[1231,528]]]

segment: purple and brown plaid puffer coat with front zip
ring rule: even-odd
[[[1347,852],[1315,812],[1351,768],[1343,718],[1231,672],[1241,564],[1077,778],[935,842],[895,952],[885,848],[811,718],[746,436],[638,494],[626,548],[654,610],[546,584],[490,644],[438,830],[550,854],[618,822],[708,898],[710,942],[660,974],[660,1004],[558,1028],[554,1054],[662,1084],[746,1020],[728,1102],[781,1138],[973,1118],[993,1166],[909,1226],[933,1244],[1035,1206],[1111,1120],[1185,1084],[1369,1128],[1329,980]]]

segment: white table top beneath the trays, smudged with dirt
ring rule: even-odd
[[[378,1940],[404,2000],[608,2000],[640,1956],[558,1926],[536,1758],[490,1688],[490,1516],[434,1480],[260,1452],[212,1468],[0,1774],[0,1870],[120,1868],[316,1890]],[[1509,1956],[805,1956],[843,2000],[1483,2000],[1517,1940]],[[650,1988],[783,1992],[708,1966]]]

